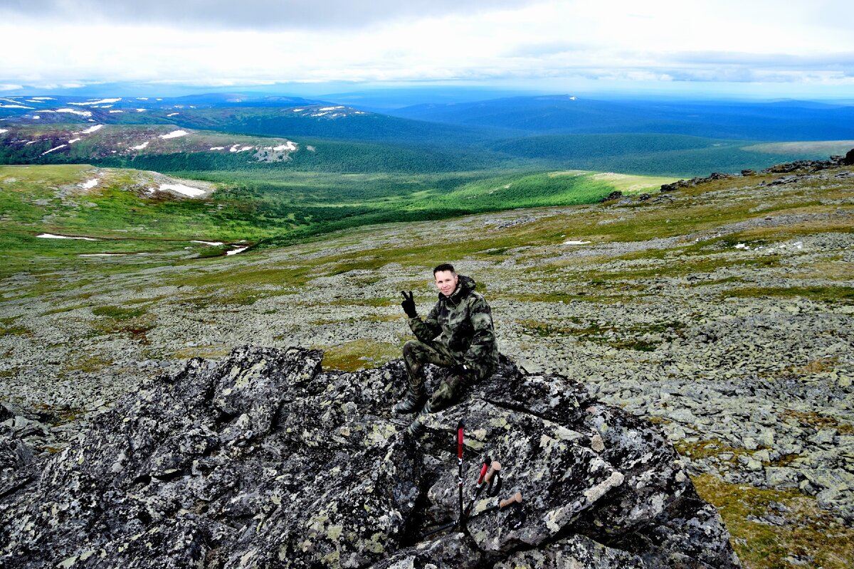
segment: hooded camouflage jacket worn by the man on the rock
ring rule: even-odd
[[[430,314],[424,320],[410,318],[409,327],[418,340],[426,343],[442,334],[439,341],[447,345],[457,362],[474,369],[480,379],[492,374],[498,365],[498,343],[492,310],[474,288],[474,279],[460,275],[453,294],[439,293],[439,301]]]

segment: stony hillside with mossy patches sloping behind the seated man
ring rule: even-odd
[[[489,300],[504,354],[658,424],[744,566],[843,569],[852,247],[854,167],[839,160],[228,258],[33,256],[2,282],[0,398],[17,410],[0,422],[44,460],[141,380],[249,341],[377,368],[411,338],[401,289],[429,310],[430,269],[449,260]]]

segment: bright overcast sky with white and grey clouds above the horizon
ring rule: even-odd
[[[850,0],[0,0],[0,92],[330,83],[854,98]]]

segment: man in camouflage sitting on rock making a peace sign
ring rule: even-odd
[[[395,413],[420,410],[407,432],[423,433],[420,416],[447,409],[459,403],[465,386],[491,375],[498,365],[498,345],[492,324],[492,311],[483,296],[475,292],[475,282],[457,275],[451,264],[433,270],[439,300],[422,320],[415,311],[412,291],[401,291],[403,311],[409,316],[409,328],[418,340],[403,346],[409,385],[406,397],[395,405]],[[441,334],[441,335],[440,335]],[[436,339],[436,336],[439,336]],[[424,363],[451,369],[451,374],[427,400],[424,389]]]

